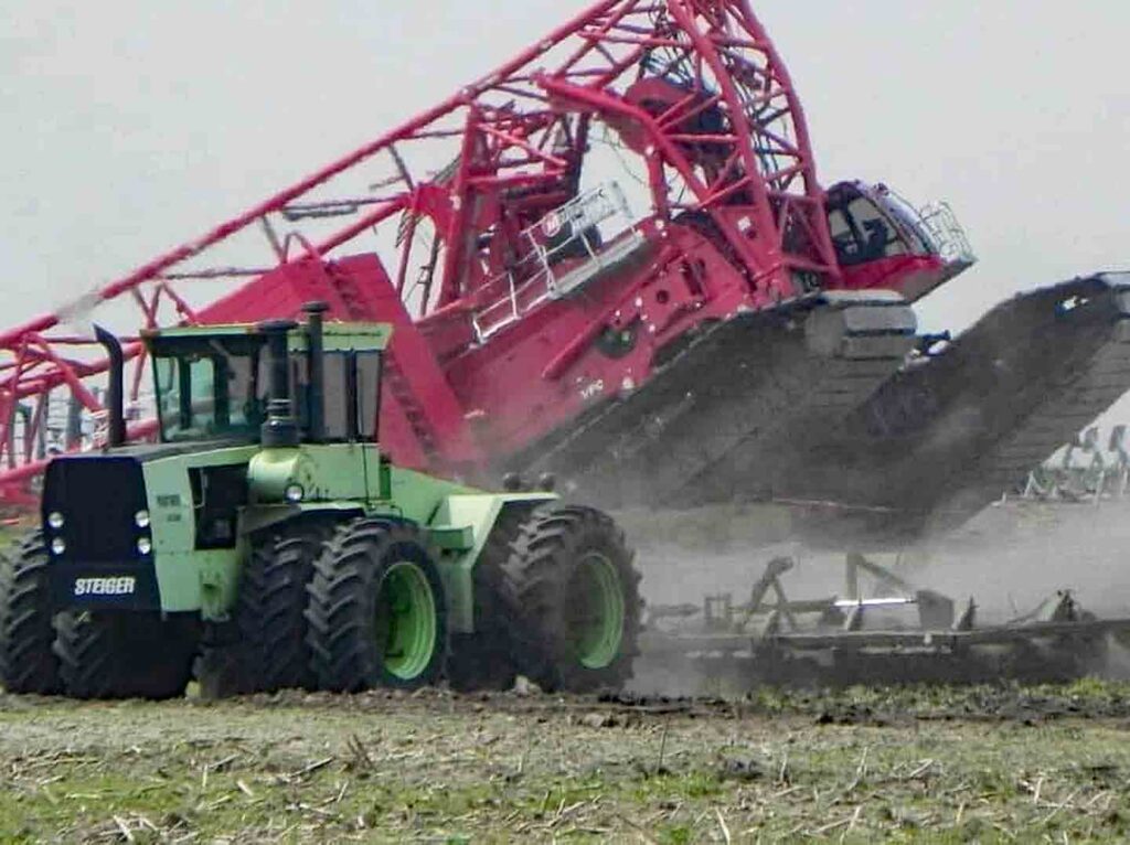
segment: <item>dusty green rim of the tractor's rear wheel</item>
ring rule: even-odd
[[[619,573],[600,552],[590,551],[577,566],[570,590],[570,633],[577,661],[603,669],[624,641],[624,591]]]

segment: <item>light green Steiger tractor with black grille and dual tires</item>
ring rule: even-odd
[[[377,445],[390,326],[323,320],[144,338],[159,442],[61,456],[42,528],[0,565],[10,692],[167,698],[446,679],[618,688],[641,601],[599,511],[393,465]]]

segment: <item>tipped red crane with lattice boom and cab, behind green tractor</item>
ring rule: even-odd
[[[67,325],[111,300],[133,303],[142,328],[285,316],[315,298],[331,316],[393,322],[382,441],[403,463],[466,476],[572,460],[581,433],[591,461],[659,418],[681,436],[669,422],[684,382],[657,378],[673,358],[707,336],[737,343],[715,358],[724,380],[779,355],[722,325],[768,337],[834,312],[835,342],[871,343],[857,358],[883,361],[852,371],[846,410],[913,342],[903,299],[869,291],[912,300],[971,261],[945,209],[822,189],[797,92],[745,0],[605,0],[408,123],[0,334],[0,497],[34,500],[52,453],[97,441],[106,363]],[[198,306],[191,287],[208,282],[229,289]],[[745,319],[757,313],[780,325]],[[809,331],[809,350],[826,333]],[[130,434],[146,438],[147,363],[140,345],[127,355]],[[751,436],[739,434],[688,478]]]

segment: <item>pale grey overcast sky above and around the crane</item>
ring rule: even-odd
[[[6,0],[5,324],[198,234],[492,69],[583,2]],[[982,258],[923,303],[1130,267],[1130,3],[760,0],[825,184],[947,198]]]

